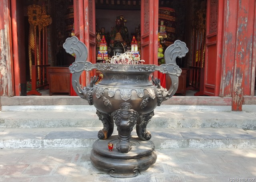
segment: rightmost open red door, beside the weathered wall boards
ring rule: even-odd
[[[223,0],[207,0],[204,94],[220,95]]]

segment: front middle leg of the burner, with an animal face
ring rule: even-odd
[[[138,119],[138,112],[130,109],[131,104],[121,104],[119,110],[112,113],[118,130],[118,144],[116,149],[121,153],[128,153],[132,149],[130,143],[131,132]]]

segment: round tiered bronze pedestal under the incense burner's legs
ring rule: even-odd
[[[156,162],[155,145],[152,141],[142,141],[138,137],[131,137],[132,149],[128,153],[120,153],[116,149],[119,139],[117,135],[106,140],[94,142],[90,154],[92,164],[116,178],[130,178],[139,172],[147,170]],[[108,143],[114,143],[112,151],[108,149]]]

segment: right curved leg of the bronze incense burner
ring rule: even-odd
[[[153,117],[154,111],[148,114],[140,115],[136,123],[136,133],[141,140],[150,140],[151,133],[146,129],[148,122]]]

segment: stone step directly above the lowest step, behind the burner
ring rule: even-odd
[[[60,106],[61,107],[61,106]],[[160,108],[160,107],[159,107]],[[96,109],[6,110],[0,112],[0,128],[102,127]],[[218,110],[173,111],[161,107],[154,111],[148,127],[236,127],[256,129],[256,112]]]

